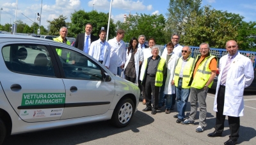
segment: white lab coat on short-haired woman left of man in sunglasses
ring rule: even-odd
[[[163,52],[161,57],[163,57],[166,60],[166,57],[167,57],[166,55],[167,55],[167,51]],[[166,77],[165,86],[164,86],[164,94],[175,93],[175,85],[172,85],[172,80],[174,77],[175,66],[178,59],[179,57],[175,55],[175,53],[173,52],[172,57],[168,60],[168,62],[166,62],[167,77]]]

